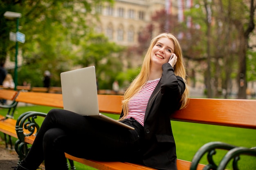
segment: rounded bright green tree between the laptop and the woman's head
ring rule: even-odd
[[[82,67],[94,65],[100,89],[112,89],[112,82],[123,70],[121,52],[124,47],[109,42],[102,34],[89,33],[80,40],[75,64]]]

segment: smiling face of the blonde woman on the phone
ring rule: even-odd
[[[167,63],[174,51],[173,41],[169,38],[159,39],[151,50],[151,66],[160,66]]]

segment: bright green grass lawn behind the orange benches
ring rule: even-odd
[[[14,118],[17,119],[20,114],[31,110],[47,113],[51,108],[52,107],[47,106],[18,107],[15,111]],[[6,113],[7,109],[0,109],[0,115],[5,115]],[[107,115],[114,119],[119,118],[119,115]],[[171,124],[173,127],[178,159],[191,161],[195,152],[197,152],[201,146],[210,141],[221,141],[235,146],[244,146],[248,148],[256,146],[256,130],[253,129],[195,124],[179,121],[171,121]],[[2,132],[0,132],[0,135],[3,137]],[[217,153],[214,156],[217,163],[222,159],[225,153],[226,151],[224,150],[217,150]],[[206,164],[206,157],[204,157],[200,163]],[[76,169],[79,170],[94,170],[94,168],[77,162],[75,162],[75,166]],[[256,157],[242,155],[240,157],[240,161],[238,161],[238,167],[240,170],[256,170]],[[227,169],[232,169],[231,163],[229,163]]]

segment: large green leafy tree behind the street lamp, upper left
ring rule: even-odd
[[[113,3],[114,0],[0,0],[1,16],[5,11],[22,13],[19,25],[26,42],[19,45],[24,64],[18,70],[22,71],[18,73],[18,84],[28,77],[42,77],[45,69],[54,73],[54,77],[66,71],[67,66],[72,65],[68,59],[73,57],[73,46],[87,34],[90,19],[86,16],[92,15],[93,9],[104,2]],[[14,60],[14,43],[8,39],[9,31],[14,31],[16,25],[3,17],[0,25],[0,60],[5,61],[7,55]],[[32,86],[40,85],[38,79],[29,81]]]

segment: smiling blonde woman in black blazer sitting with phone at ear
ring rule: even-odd
[[[45,117],[27,157],[15,170],[36,170],[43,160],[46,170],[66,169],[65,152],[85,159],[176,170],[170,115],[188,103],[185,77],[179,42],[171,33],[158,35],[151,41],[141,72],[124,94],[120,121],[135,130],[53,109]]]

